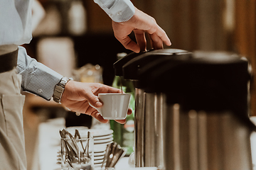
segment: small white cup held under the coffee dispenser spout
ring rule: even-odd
[[[107,120],[124,120],[129,109],[131,94],[98,94],[101,108],[96,108]]]

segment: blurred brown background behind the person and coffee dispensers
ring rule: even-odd
[[[236,52],[250,60],[252,75],[256,74],[256,1],[132,2],[156,19],[169,35],[171,48]],[[133,34],[130,36],[134,39]],[[33,40],[24,47],[28,55],[65,77],[110,86],[114,80],[112,64],[117,61],[117,54],[131,52],[114,38],[111,19],[93,0],[36,0],[33,5]],[[252,115],[256,115],[255,81],[252,76]],[[26,152],[28,169],[33,169],[30,160],[35,152],[38,125],[49,118],[70,115],[52,101],[31,94],[26,96],[23,114]],[[88,123],[91,126],[93,121]]]

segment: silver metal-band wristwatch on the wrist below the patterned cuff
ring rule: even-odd
[[[63,91],[65,90],[65,84],[68,83],[70,79],[67,77],[63,77],[58,84],[56,84],[54,92],[53,92],[53,101],[60,103],[60,99],[63,95]]]

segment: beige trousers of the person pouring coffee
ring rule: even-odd
[[[0,170],[26,170],[21,75],[0,73]]]

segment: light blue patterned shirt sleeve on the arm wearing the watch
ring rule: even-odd
[[[29,57],[24,47],[18,47],[18,74],[22,75],[23,91],[31,92],[50,101],[55,85],[63,77],[49,67]]]

